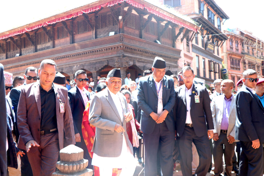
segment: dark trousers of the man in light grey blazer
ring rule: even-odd
[[[232,158],[235,153],[235,142],[229,144],[226,133],[220,133],[219,139],[213,141],[214,174],[218,176],[223,171],[223,154],[225,158],[225,173],[231,176]]]

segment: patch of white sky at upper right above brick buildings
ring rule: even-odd
[[[253,32],[253,36],[264,40],[263,0],[214,0],[229,16],[222,29],[239,28]]]

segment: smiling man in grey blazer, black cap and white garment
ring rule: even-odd
[[[126,98],[119,93],[122,78],[120,69],[111,70],[106,79],[107,88],[93,97],[89,122],[96,127],[92,165],[99,167],[101,176],[112,175],[113,169],[121,175],[133,175],[135,163],[133,148],[126,132],[126,122],[132,119]]]

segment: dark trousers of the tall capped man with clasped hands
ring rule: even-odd
[[[173,175],[173,147],[175,132],[168,130],[166,122],[155,124],[151,134],[143,133],[145,145],[145,176],[157,175],[157,156],[160,151],[160,165],[164,176]]]

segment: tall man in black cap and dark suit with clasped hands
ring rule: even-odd
[[[153,74],[139,80],[138,106],[141,108],[141,130],[145,145],[145,176],[157,175],[157,155],[164,176],[173,174],[175,126],[172,108],[175,104],[173,78],[165,75],[166,62],[156,57]]]

